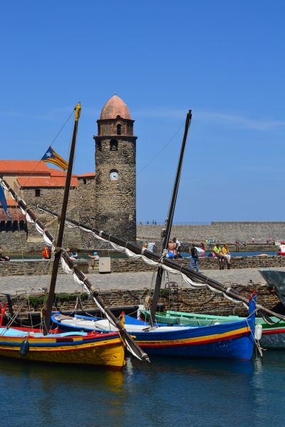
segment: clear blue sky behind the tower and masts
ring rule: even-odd
[[[40,159],[81,101],[75,172],[93,171],[117,92],[138,136],[138,220],[165,218],[189,109],[175,221],[284,220],[284,16],[278,0],[2,2],[1,159]],[[64,156],[71,132],[53,145]]]

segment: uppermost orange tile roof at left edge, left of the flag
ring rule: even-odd
[[[38,160],[0,160],[0,174],[50,174],[51,168]]]

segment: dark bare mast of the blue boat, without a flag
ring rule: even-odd
[[[172,221],[173,221],[175,204],[176,204],[176,200],[177,200],[177,193],[178,193],[179,183],[180,183],[183,156],[184,156],[184,152],[185,152],[185,146],[186,146],[186,141],[187,141],[188,130],[189,130],[189,127],[191,124],[191,119],[192,119],[192,111],[189,110],[189,112],[187,112],[187,116],[186,116],[186,120],[185,120],[185,131],[184,131],[184,136],[182,139],[182,144],[181,144],[181,149],[180,149],[180,158],[179,158],[179,162],[177,165],[177,171],[176,171],[176,176],[175,176],[175,184],[173,186],[172,198],[171,198],[171,202],[170,202],[170,209],[168,211],[166,229],[165,229],[165,233],[164,233],[163,241],[162,241],[162,254],[165,250],[167,250],[167,245],[168,245],[168,242],[170,240]],[[162,273],[163,273],[163,269],[162,269],[162,267],[159,267],[157,270],[157,276],[156,276],[156,280],[155,280],[155,290],[153,291],[152,304],[150,307],[150,322],[152,325],[154,324],[154,321],[155,321],[155,312],[157,309],[157,301],[158,301],[158,298],[160,295]]]

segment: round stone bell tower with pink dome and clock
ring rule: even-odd
[[[96,228],[135,242],[136,187],[134,120],[116,94],[101,111],[95,139]]]

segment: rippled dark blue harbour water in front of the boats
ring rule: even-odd
[[[127,360],[124,371],[0,359],[6,427],[283,426],[285,352]]]

